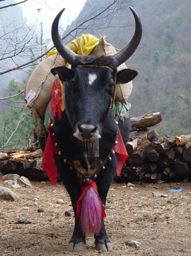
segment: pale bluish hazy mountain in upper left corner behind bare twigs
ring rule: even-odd
[[[14,0],[7,0],[0,3],[0,6],[14,4]],[[19,29],[21,28],[21,29]],[[26,24],[23,19],[23,12],[20,6],[11,6],[0,10],[0,71],[8,70],[21,64],[23,55],[19,54],[23,38],[26,37]],[[17,49],[16,49],[17,47]],[[15,55],[15,56],[14,56]],[[11,58],[14,56],[13,58]],[[5,87],[11,79],[19,81],[25,75],[24,72],[14,70],[11,73],[1,75],[0,95],[3,96]],[[3,89],[3,90],[2,90]]]

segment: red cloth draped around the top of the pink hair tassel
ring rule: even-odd
[[[85,183],[85,185],[82,187],[82,195],[80,196],[80,198],[78,199],[77,203],[76,203],[76,206],[77,206],[77,218],[80,218],[80,212],[81,212],[81,202],[82,202],[82,199],[84,197],[84,195],[86,195],[86,192],[89,188],[92,188],[95,190],[95,192],[97,193],[97,195],[99,196],[98,192],[97,192],[97,185],[95,183],[95,181],[93,180],[89,180],[88,182]],[[105,218],[106,217],[106,214],[105,214],[105,209],[104,209],[104,206],[101,202],[101,199],[100,199],[100,203],[101,203],[101,206],[102,206],[102,218]]]

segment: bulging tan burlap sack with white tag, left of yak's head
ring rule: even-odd
[[[39,119],[37,111],[42,115],[46,111],[51,98],[51,89],[54,82],[54,75],[51,73],[51,69],[60,66],[66,66],[66,61],[60,54],[49,56],[35,68],[26,84],[27,107],[33,113],[35,121]],[[33,98],[30,99],[31,93]]]

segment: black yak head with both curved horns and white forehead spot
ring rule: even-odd
[[[64,9],[52,24],[52,40],[60,55],[71,64],[71,68],[55,67],[51,70],[66,84],[65,96],[68,115],[74,129],[74,136],[82,141],[101,138],[102,125],[111,106],[111,96],[117,83],[127,83],[137,76],[137,71],[117,67],[125,62],[137,49],[142,26],[136,12],[133,12],[136,28],[128,44],[113,56],[96,57],[77,55],[63,43],[58,33],[58,23]]]

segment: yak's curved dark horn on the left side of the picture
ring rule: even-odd
[[[52,41],[54,43],[54,46],[56,47],[57,51],[60,53],[60,55],[66,59],[66,61],[70,64],[75,60],[77,54],[73,52],[70,48],[64,44],[62,41],[59,32],[58,32],[58,23],[60,20],[61,15],[63,14],[65,8],[62,9],[62,11],[59,12],[59,14],[55,17],[53,23],[52,23],[52,29],[51,29],[51,36]]]

